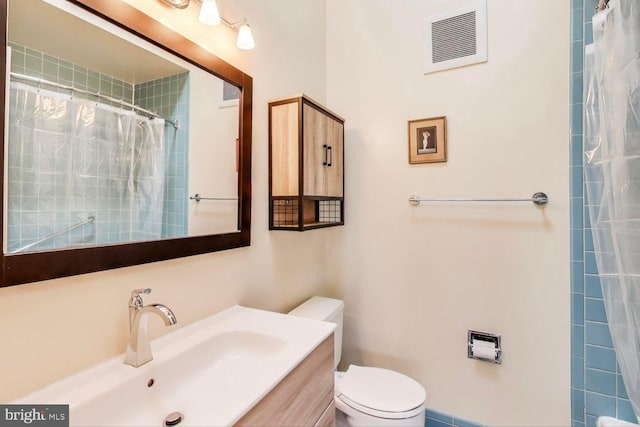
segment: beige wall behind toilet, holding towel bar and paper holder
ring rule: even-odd
[[[422,73],[422,18],[459,0],[327,0],[327,100],[346,121],[346,223],[326,231],[345,363],[397,369],[427,406],[570,424],[568,1],[488,0],[489,61]],[[448,162],[408,165],[407,121],[447,116]],[[528,197],[520,204],[407,198]],[[504,363],[467,359],[468,329]]]

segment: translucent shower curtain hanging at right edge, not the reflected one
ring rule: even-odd
[[[585,178],[607,320],[640,415],[640,2],[611,0],[585,56]]]

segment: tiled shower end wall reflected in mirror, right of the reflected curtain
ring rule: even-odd
[[[135,87],[136,103],[170,120],[179,128],[165,126],[166,179],[162,237],[188,234],[189,73],[140,83]]]

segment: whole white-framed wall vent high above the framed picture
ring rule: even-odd
[[[424,73],[487,61],[487,1],[424,18]]]

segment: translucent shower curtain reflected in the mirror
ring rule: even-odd
[[[7,252],[161,238],[164,149],[162,119],[12,82]]]

